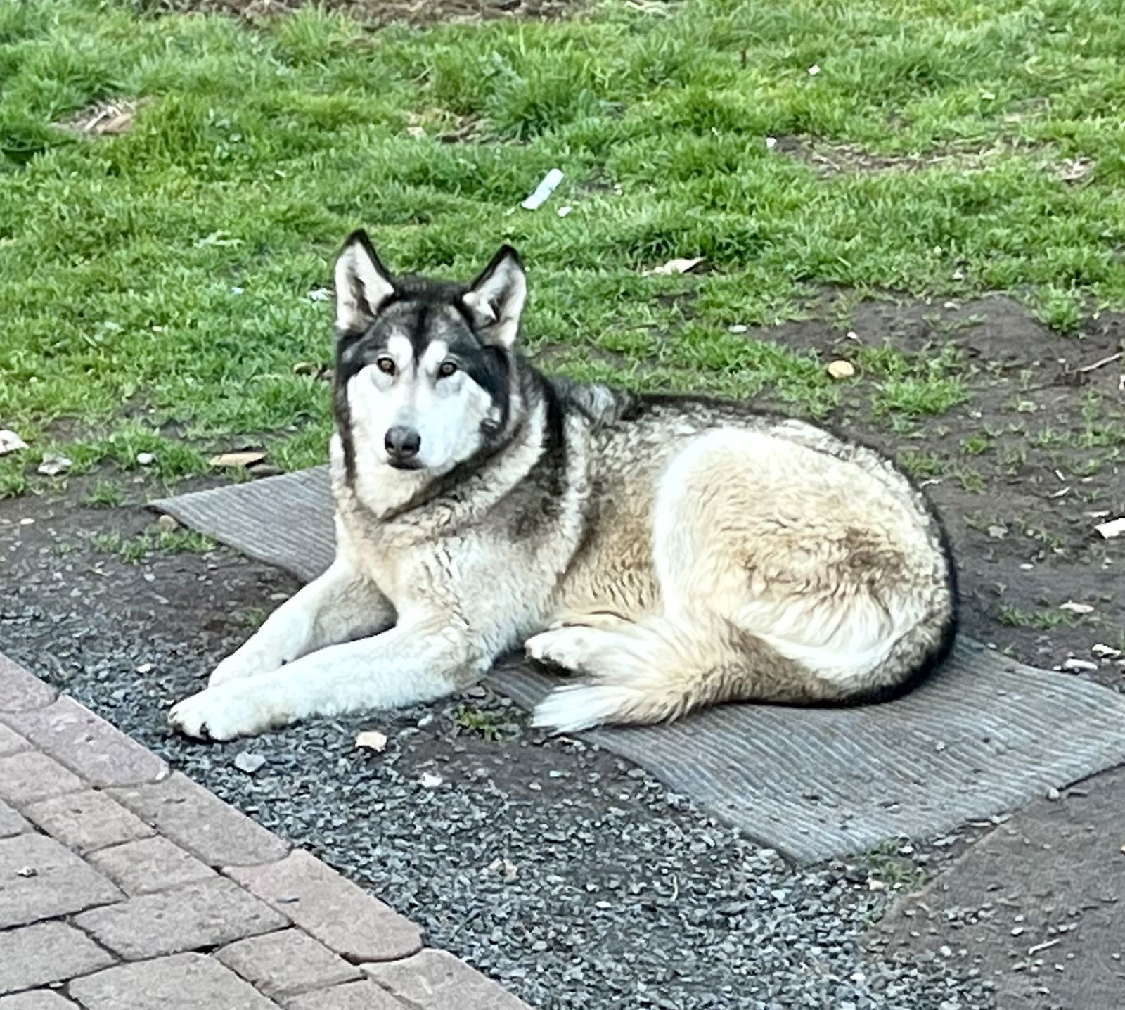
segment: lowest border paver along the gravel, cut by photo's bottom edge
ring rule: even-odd
[[[363,971],[412,1010],[523,1010],[510,992],[444,950],[405,961],[367,964]]]

